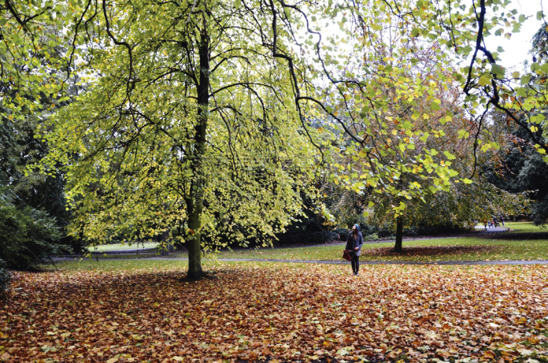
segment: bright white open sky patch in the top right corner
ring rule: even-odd
[[[490,36],[486,38],[487,49],[495,51],[501,46],[504,53],[500,53],[501,60],[498,62],[505,68],[515,67],[516,71],[523,69],[524,60],[532,61],[532,56],[527,54],[531,49],[531,39],[540,27],[544,24],[543,21],[536,20],[536,12],[540,11],[544,6],[545,14],[548,15],[548,1],[544,0],[512,0],[506,9],[516,9],[519,13],[527,16],[527,20],[521,26],[521,32],[512,34],[510,40],[503,36]],[[487,14],[488,18],[489,14]],[[547,18],[548,22],[548,18]]]

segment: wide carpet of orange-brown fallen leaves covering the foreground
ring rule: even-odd
[[[542,362],[548,266],[15,273],[3,362]]]

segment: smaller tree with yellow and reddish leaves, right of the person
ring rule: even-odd
[[[348,57],[340,75],[358,78],[351,69],[363,78],[341,82],[345,86],[335,82],[344,101],[334,105],[334,118],[349,140],[339,147],[344,162],[333,177],[364,199],[366,216],[369,202],[369,210],[376,205],[375,218],[389,215],[395,221],[395,251],[401,252],[407,206],[424,202],[430,192],[448,191],[458,175],[450,168],[455,156],[436,139],[445,140],[444,129],[456,123],[459,95],[451,89],[449,63],[440,62],[439,45],[406,38],[401,24],[386,20],[387,9],[369,11],[374,16],[355,14],[363,33],[352,51],[365,54],[364,59]],[[381,28],[369,32],[370,22]]]

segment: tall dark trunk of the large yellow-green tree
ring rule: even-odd
[[[203,210],[203,188],[206,177],[203,175],[203,155],[206,151],[206,129],[209,112],[210,55],[209,38],[206,24],[201,34],[199,46],[200,77],[197,85],[198,113],[195,125],[194,160],[192,160],[193,179],[190,194],[186,201],[188,213],[188,273],[187,279],[200,279],[205,274],[201,268],[201,212]]]

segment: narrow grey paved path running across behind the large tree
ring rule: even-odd
[[[53,258],[55,262],[74,261],[75,258]],[[162,260],[162,261],[186,261],[188,258],[107,258],[102,261],[127,261],[127,260]],[[207,258],[203,260],[207,261]],[[260,258],[219,258],[222,262],[279,262],[290,264],[350,264],[349,261],[327,261],[327,260],[268,260]],[[548,264],[548,260],[507,260],[507,261],[360,261],[360,264],[439,264],[439,265],[526,265],[526,264]]]

